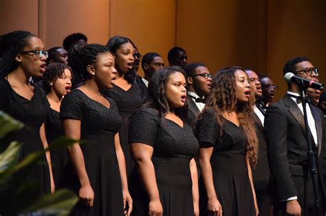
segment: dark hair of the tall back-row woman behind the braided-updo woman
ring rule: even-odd
[[[126,37],[122,36],[113,36],[110,38],[110,40],[107,42],[107,47],[111,50],[111,52],[116,55],[116,51],[120,48],[121,45],[125,43],[131,43],[133,45],[133,48],[135,48],[135,44]],[[118,70],[119,75],[122,75],[122,71],[119,70],[119,66],[116,65],[116,69]],[[133,65],[133,68],[128,71],[127,73],[124,73],[124,79],[127,80],[129,84],[135,82],[135,77],[136,77],[136,71],[135,71],[135,66]]]

